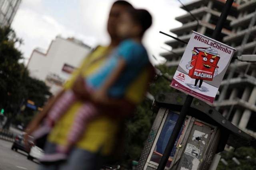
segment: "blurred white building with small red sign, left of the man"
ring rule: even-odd
[[[34,49],[27,68],[31,77],[46,82],[56,94],[90,51],[82,41],[57,36],[47,51]]]

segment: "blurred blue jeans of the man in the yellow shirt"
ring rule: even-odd
[[[44,151],[46,154],[54,153],[56,145],[47,142]],[[105,163],[107,163],[106,156],[73,147],[65,162],[40,165],[38,170],[100,170]]]

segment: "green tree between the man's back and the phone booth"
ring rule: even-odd
[[[170,77],[176,71],[175,67],[168,68],[165,64],[156,66],[165,76]],[[163,76],[156,76],[151,82],[149,92],[155,95],[157,92],[174,92],[170,87],[170,81]],[[126,121],[126,145],[122,165],[131,168],[132,160],[139,160],[142,149],[156,117],[151,110],[152,101],[145,99],[136,109],[135,113]]]

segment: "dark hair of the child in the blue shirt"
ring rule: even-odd
[[[143,36],[145,31],[152,25],[152,16],[147,10],[143,9],[129,8],[128,12],[132,20],[141,25],[142,31],[140,35]]]

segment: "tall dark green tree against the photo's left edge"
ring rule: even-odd
[[[18,106],[20,93],[18,91],[25,72],[24,65],[18,63],[22,54],[15,48],[22,40],[16,37],[9,27],[0,28],[0,106],[6,106],[12,101],[13,107]],[[25,73],[26,74],[26,73]]]

